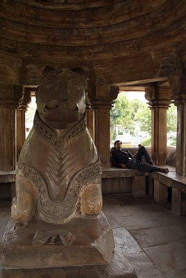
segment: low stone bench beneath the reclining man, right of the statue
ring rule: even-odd
[[[103,194],[130,193],[134,196],[149,195],[156,202],[165,203],[168,202],[168,195],[171,195],[171,211],[176,215],[186,215],[186,177],[176,174],[175,167],[169,165],[161,165],[161,167],[168,167],[169,173],[147,173],[117,167],[103,169],[102,192]]]

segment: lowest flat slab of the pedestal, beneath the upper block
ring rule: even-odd
[[[116,247],[107,265],[82,265],[65,268],[32,268],[1,270],[2,278],[137,278],[133,267]]]

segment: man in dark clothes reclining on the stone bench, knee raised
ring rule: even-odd
[[[115,141],[115,147],[111,149],[111,161],[115,167],[138,169],[142,172],[164,172],[168,173],[168,168],[161,168],[155,166],[149,152],[141,144],[138,145],[139,149],[133,156],[128,149],[121,148],[122,142]],[[142,163],[142,156],[144,156],[146,163]]]

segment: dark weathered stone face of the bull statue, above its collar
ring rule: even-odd
[[[44,124],[67,129],[85,113],[85,79],[67,69],[47,72],[37,92],[37,111]]]

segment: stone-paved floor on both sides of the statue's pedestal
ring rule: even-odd
[[[115,242],[138,278],[186,278],[185,217],[146,197],[120,193],[105,195],[103,201]],[[10,199],[0,199],[0,236],[10,218],[10,204]]]

